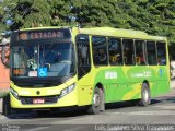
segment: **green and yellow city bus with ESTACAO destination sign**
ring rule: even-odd
[[[10,105],[18,109],[85,106],[138,100],[170,90],[165,37],[110,27],[36,27],[13,32]]]

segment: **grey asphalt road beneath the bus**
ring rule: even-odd
[[[164,96],[152,99],[148,107],[129,102],[108,104],[106,110],[100,115],[88,115],[79,109],[55,111],[45,117],[38,117],[32,111],[0,116],[2,131],[118,131],[118,129],[150,131],[155,129],[155,126],[162,124],[170,131],[175,130],[175,88]]]

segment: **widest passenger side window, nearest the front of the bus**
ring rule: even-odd
[[[107,66],[106,37],[92,36],[93,62],[95,66]]]

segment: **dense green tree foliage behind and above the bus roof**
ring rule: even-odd
[[[8,19],[14,24],[7,26]],[[0,20],[0,32],[32,26],[110,26],[166,36],[175,45],[174,0],[3,0]]]

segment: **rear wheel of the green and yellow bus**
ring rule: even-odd
[[[148,106],[150,103],[151,103],[150,88],[147,83],[143,83],[141,88],[141,99],[139,100],[139,105]]]

